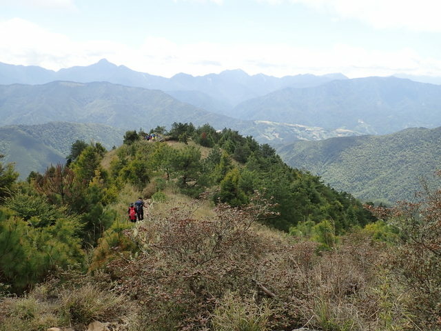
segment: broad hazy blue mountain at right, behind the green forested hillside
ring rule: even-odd
[[[236,117],[387,134],[441,126],[441,86],[396,77],[286,88],[240,103]]]

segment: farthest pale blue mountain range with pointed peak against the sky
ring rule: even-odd
[[[223,103],[225,110],[236,106],[237,103],[265,95],[281,88],[305,88],[318,86],[334,79],[347,79],[343,74],[326,74],[315,76],[313,74],[298,74],[282,78],[256,74],[250,76],[243,70],[226,70],[220,74],[207,74],[193,77],[189,74],[176,74],[171,78],[154,76],[144,72],[136,72],[126,66],[116,66],[102,59],[91,66],[76,66],[61,69],[57,72],[45,70],[36,66],[14,66],[0,63],[0,84],[44,84],[50,81],[76,81],[90,83],[93,81],[107,81],[110,83],[147,88],[150,90],[173,91],[174,97],[183,101],[192,101],[192,96],[197,102],[201,94],[214,99],[214,103]],[[181,91],[178,93],[178,91]],[[186,95],[183,91],[188,91]],[[194,95],[198,91],[198,95]],[[194,104],[193,102],[189,102]],[[197,106],[197,105],[196,105]],[[205,110],[214,111],[205,105]]]

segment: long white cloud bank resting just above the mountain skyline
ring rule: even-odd
[[[441,76],[441,59],[421,57],[411,48],[384,52],[340,44],[330,49],[297,48],[283,43],[173,43],[148,37],[130,48],[111,41],[72,41],[23,19],[0,22],[0,61],[52,70],[87,66],[106,58],[117,65],[170,77],[241,68],[274,76],[342,72],[349,77],[396,72]]]

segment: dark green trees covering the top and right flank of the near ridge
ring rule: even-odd
[[[220,185],[216,197],[234,206],[246,203],[254,190],[260,190],[267,199],[273,197],[277,203],[279,214],[271,219],[271,225],[285,231],[308,218],[317,221],[332,218],[336,220],[336,228],[342,229],[350,223],[352,212],[360,213],[360,223],[366,221],[355,199],[329,188],[316,176],[289,168],[274,148],[259,145],[252,137],[245,138],[231,129],[219,132],[208,125],[194,128],[187,123],[174,123],[168,135],[184,142],[192,139],[198,145],[213,149],[205,152],[204,159],[193,146],[183,146],[183,151],[174,152],[167,145],[154,150],[151,144],[136,141],[136,148],[123,148],[124,154],[120,152],[119,159],[113,161],[113,173],[130,173],[127,176],[134,184],[142,184],[141,178],[147,181],[152,177],[149,170],[160,165],[167,178],[176,176],[182,192],[197,197],[207,188]],[[131,161],[127,161],[127,157]],[[142,165],[143,162],[149,165]]]

